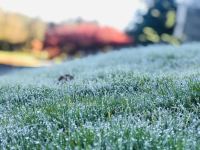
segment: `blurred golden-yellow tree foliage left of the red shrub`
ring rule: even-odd
[[[45,31],[40,19],[0,10],[0,49],[30,49],[33,41],[44,40]]]

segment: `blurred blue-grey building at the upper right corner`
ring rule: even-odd
[[[177,0],[177,25],[174,35],[185,41],[200,41],[199,0]]]

